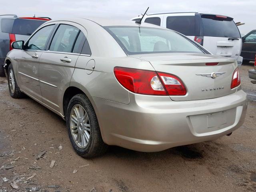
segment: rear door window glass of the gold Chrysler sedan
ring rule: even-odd
[[[61,24],[54,34],[49,50],[71,53],[78,33],[78,28],[71,25]]]

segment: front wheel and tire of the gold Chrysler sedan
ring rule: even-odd
[[[12,68],[12,64],[9,65],[8,67],[8,87],[9,87],[9,92],[12,98],[23,98],[24,93],[20,91],[20,88],[18,87],[18,84],[16,82],[16,78],[14,75],[14,70]]]

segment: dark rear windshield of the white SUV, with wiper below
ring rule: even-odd
[[[201,18],[204,36],[241,38],[232,18],[207,14],[202,15]]]

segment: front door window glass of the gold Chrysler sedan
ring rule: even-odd
[[[48,25],[38,30],[29,40],[26,46],[28,50],[44,50],[50,34],[55,25]]]

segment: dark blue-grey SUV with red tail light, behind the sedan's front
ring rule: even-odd
[[[18,17],[17,15],[0,15],[0,76],[4,74],[4,59],[12,50],[11,44],[17,40],[26,41],[28,37],[50,18]]]

